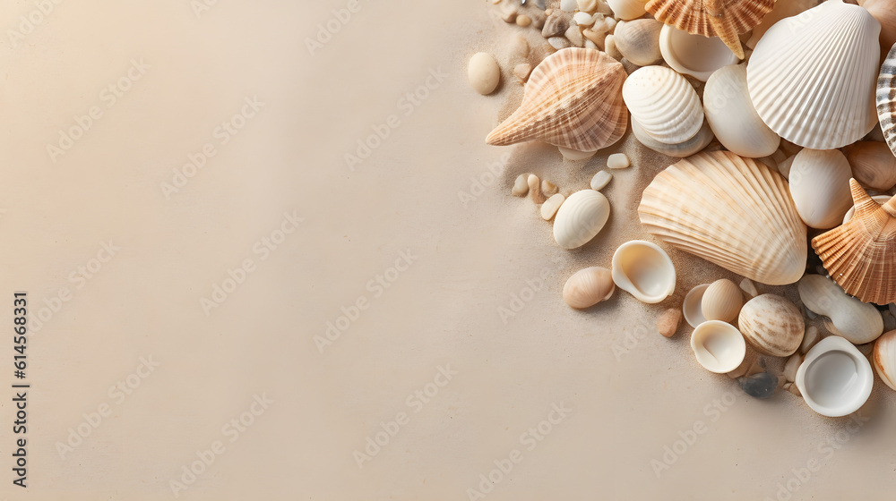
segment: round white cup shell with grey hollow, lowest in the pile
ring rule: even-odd
[[[838,418],[856,412],[874,386],[871,364],[839,335],[815,344],[797,369],[797,388],[814,412]]]

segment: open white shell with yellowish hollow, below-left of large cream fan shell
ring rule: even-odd
[[[648,304],[675,292],[675,266],[665,250],[643,240],[625,242],[613,253],[613,282]]]

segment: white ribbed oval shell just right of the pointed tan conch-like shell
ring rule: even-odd
[[[703,107],[685,77],[665,66],[644,66],[625,81],[625,106],[644,132],[660,142],[689,140],[703,124]]]

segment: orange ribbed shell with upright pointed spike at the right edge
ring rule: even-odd
[[[881,205],[856,180],[849,185],[855,214],[812,239],[812,247],[846,293],[877,304],[896,301],[896,197]]]

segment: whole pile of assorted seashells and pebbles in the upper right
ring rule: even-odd
[[[502,73],[523,86],[487,143],[547,143],[586,171],[578,190],[529,173],[511,189],[540,206],[559,252],[589,263],[563,286],[570,308],[632,295],[668,343],[691,331],[696,365],[824,416],[856,412],[875,373],[896,391],[896,2],[492,3],[544,40],[515,34],[506,67],[471,58],[478,93],[513,89]],[[605,191],[607,169],[619,180]],[[644,236],[589,244],[615,238],[611,203],[648,173],[634,204]],[[678,276],[673,248],[728,273]]]

